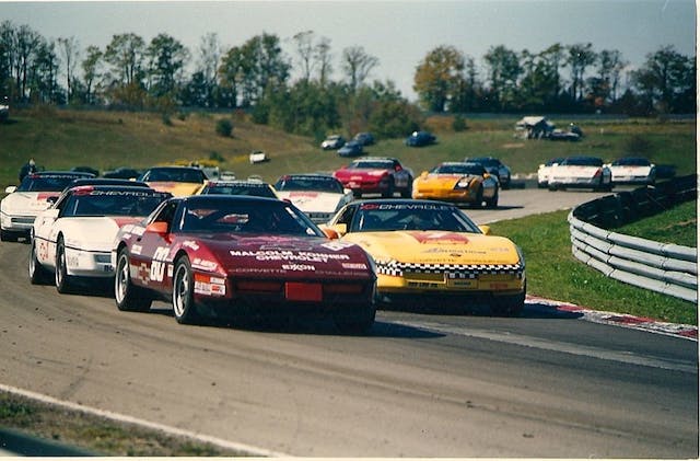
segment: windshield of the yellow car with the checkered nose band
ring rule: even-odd
[[[456,207],[441,205],[397,205],[360,207],[351,231],[441,230],[481,233]]]

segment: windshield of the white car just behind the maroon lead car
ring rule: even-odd
[[[73,194],[62,207],[61,216],[135,216],[145,217],[170,194],[152,192],[93,191]]]

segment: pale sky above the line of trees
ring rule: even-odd
[[[104,47],[116,34],[150,42],[166,33],[194,56],[200,38],[217,33],[228,49],[262,34],[276,34],[290,57],[291,37],[313,31],[330,39],[335,79],[340,55],[362,46],[378,58],[371,79],[393,80],[415,99],[416,67],[433,48],[452,45],[482,68],[492,46],[541,51],[555,43],[592,43],[596,51],[618,49],[633,67],[662,46],[696,55],[695,0],[394,0],[394,1],[118,1],[8,2],[0,21],[28,25],[42,36],[75,37],[81,48]]]

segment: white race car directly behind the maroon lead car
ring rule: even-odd
[[[112,244],[117,231],[151,214],[167,192],[147,187],[90,185],[65,191],[32,228],[32,284],[70,292],[77,277],[113,277]]]

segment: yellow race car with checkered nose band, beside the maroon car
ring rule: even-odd
[[[523,310],[522,251],[504,237],[489,235],[453,204],[355,200],[326,228],[338,234],[338,244],[357,243],[374,258],[380,306],[486,304],[498,315]]]

